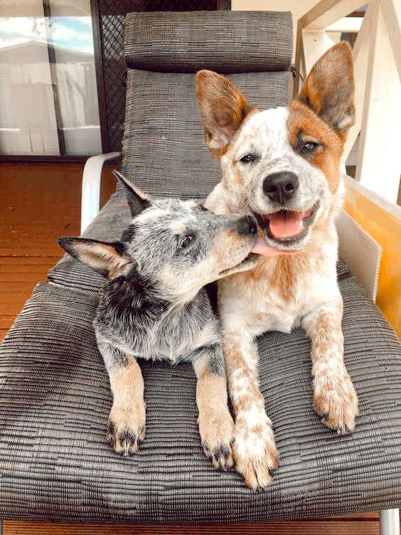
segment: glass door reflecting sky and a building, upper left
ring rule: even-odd
[[[0,156],[100,152],[90,0],[0,0]]]

